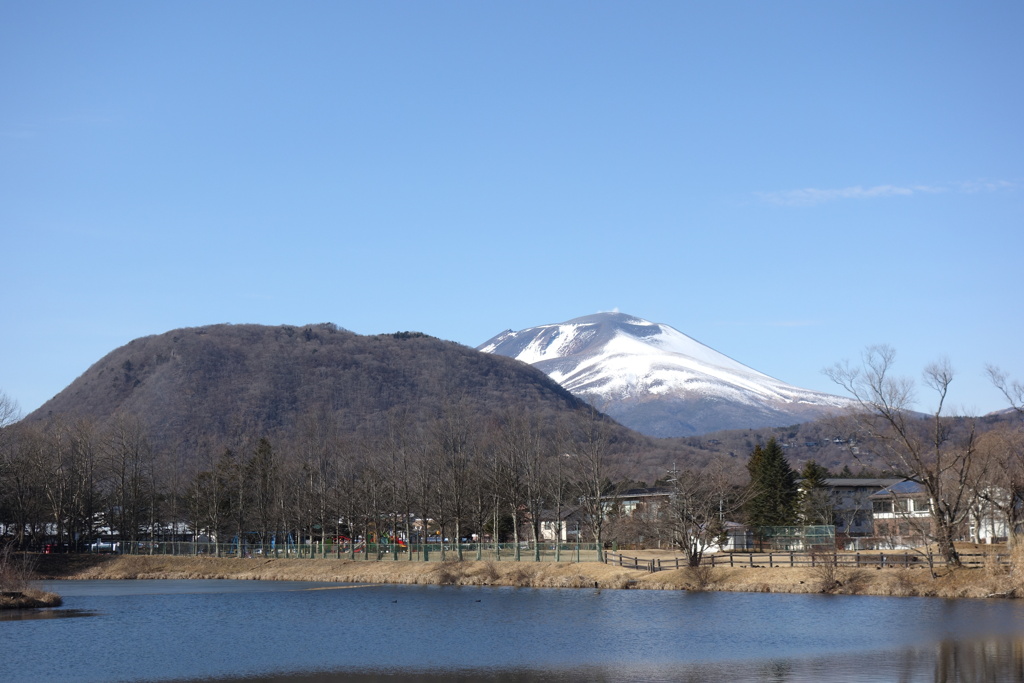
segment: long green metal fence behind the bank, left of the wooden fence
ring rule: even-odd
[[[105,552],[121,555],[177,555],[197,557],[243,557],[279,559],[341,559],[364,561],[439,562],[461,559],[523,562],[593,562],[598,559],[593,543],[313,543],[254,544],[201,543],[175,541],[166,543],[118,544]]]

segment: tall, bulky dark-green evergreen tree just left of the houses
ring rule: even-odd
[[[750,525],[759,528],[796,524],[800,512],[797,473],[774,438],[768,439],[764,447],[754,447],[746,470],[751,474],[746,504]]]

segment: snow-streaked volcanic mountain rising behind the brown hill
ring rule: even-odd
[[[759,373],[667,325],[618,312],[506,330],[477,349],[528,362],[651,436],[779,427],[849,404]]]

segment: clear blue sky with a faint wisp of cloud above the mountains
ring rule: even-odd
[[[0,4],[0,391],[618,309],[783,381],[1024,379],[1024,3]],[[928,408],[922,392],[921,408]]]

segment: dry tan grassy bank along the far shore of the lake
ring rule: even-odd
[[[934,596],[947,598],[1024,595],[1022,577],[992,567],[942,571],[933,579],[923,568],[758,567],[648,573],[597,562],[393,562],[337,559],[233,559],[171,556],[46,556],[40,578],[240,579],[373,584],[516,586],[833,593],[845,595]]]

